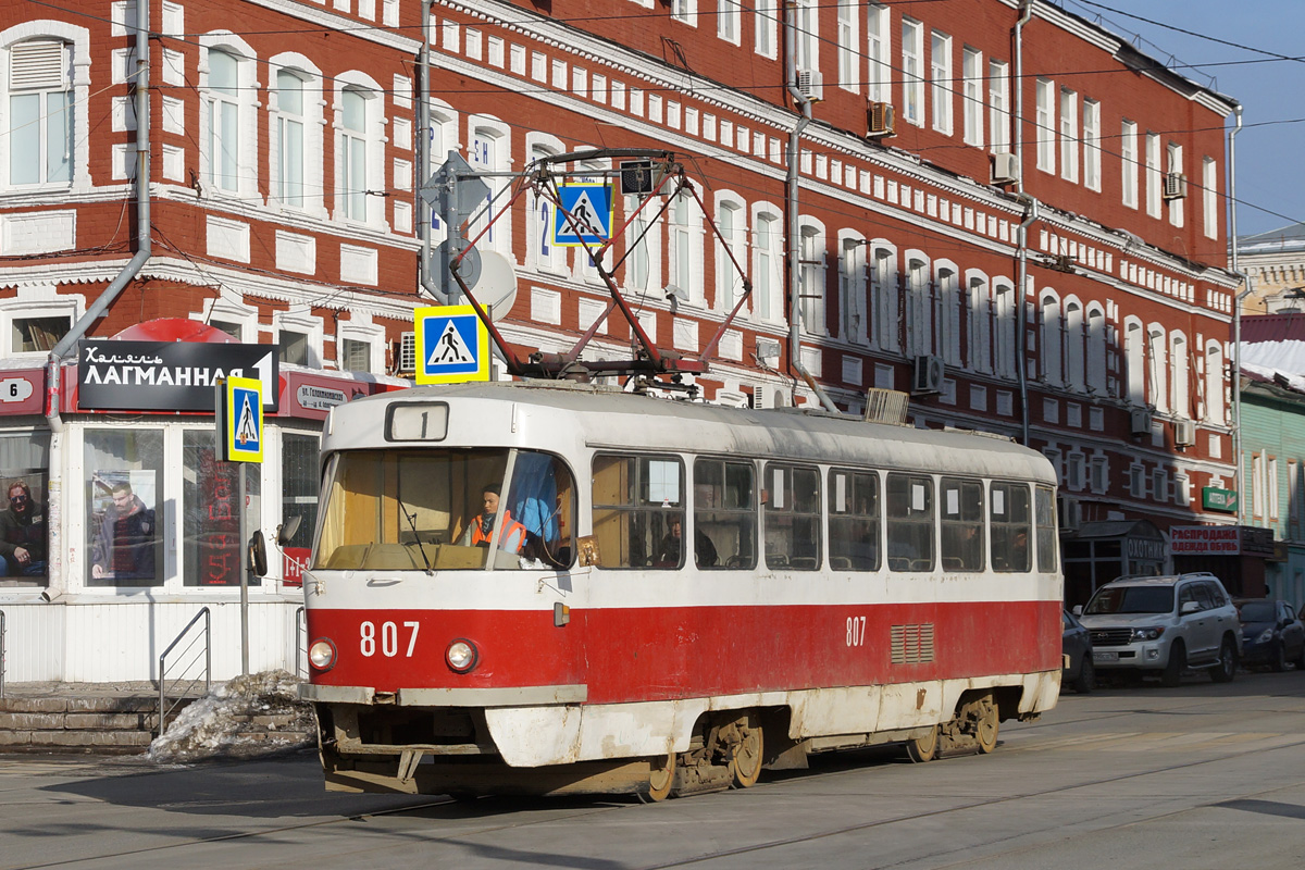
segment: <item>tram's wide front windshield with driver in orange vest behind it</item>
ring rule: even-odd
[[[572,565],[576,487],[545,453],[338,453],[322,492],[317,570]]]

